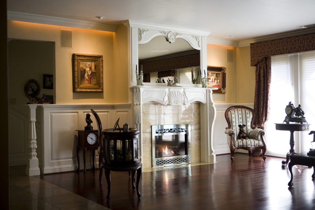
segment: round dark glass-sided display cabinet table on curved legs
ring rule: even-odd
[[[100,163],[100,182],[102,182],[103,170],[107,182],[107,196],[109,200],[111,195],[111,171],[128,171],[132,173],[132,189],[137,190],[138,198],[139,181],[141,176],[141,167],[138,160],[138,139],[139,131],[129,128],[128,132],[120,132],[118,129],[104,129],[103,135],[103,158]],[[137,171],[137,182],[135,186],[135,172]]]

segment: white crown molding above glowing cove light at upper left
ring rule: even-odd
[[[23,21],[23,22],[31,22],[31,23],[42,23],[42,24],[49,24],[49,25],[56,25],[56,26],[92,29],[92,30],[98,30],[98,31],[116,32],[116,29],[117,29],[117,26],[108,25],[108,24],[45,16],[45,15],[39,15],[39,14],[12,12],[12,11],[8,11],[7,19],[18,20],[18,21]]]

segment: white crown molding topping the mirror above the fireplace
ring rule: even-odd
[[[199,35],[203,37],[207,37],[210,32],[205,31],[196,31],[193,29],[187,29],[187,28],[178,28],[163,24],[156,24],[156,23],[148,23],[148,22],[142,22],[137,20],[125,20],[122,22],[127,27],[138,27],[138,28],[145,28],[145,29],[151,29],[151,30],[164,30],[164,31],[174,31],[178,33],[183,34],[189,34],[189,35]]]

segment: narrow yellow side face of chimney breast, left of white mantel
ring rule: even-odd
[[[114,54],[114,103],[128,103],[128,34],[123,24],[113,35]]]

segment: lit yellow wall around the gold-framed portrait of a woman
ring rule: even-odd
[[[73,48],[60,48],[60,29],[73,31]],[[8,21],[8,38],[55,43],[56,104],[114,103],[113,32]],[[72,54],[98,54],[104,60],[104,92],[72,92]],[[44,71],[43,71],[44,73]],[[32,78],[25,78],[26,81]],[[38,81],[41,83],[41,81]],[[42,93],[41,93],[42,94]]]

